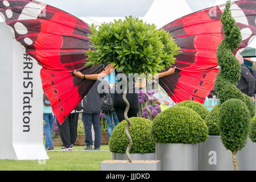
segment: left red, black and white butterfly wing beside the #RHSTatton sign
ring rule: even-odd
[[[77,78],[73,71],[102,71],[102,65],[85,67],[85,51],[90,46],[88,24],[55,7],[29,0],[0,0],[0,15],[26,53],[43,67],[40,76],[44,93],[57,121],[63,123],[94,84]]]

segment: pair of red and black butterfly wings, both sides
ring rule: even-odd
[[[224,38],[220,18],[223,6],[197,11],[163,27],[181,48],[175,74],[159,79],[174,100],[203,103],[218,73],[216,51]],[[232,3],[232,14],[241,28],[245,48],[256,34],[256,1]],[[102,65],[85,66],[90,48],[90,28],[82,20],[55,7],[29,0],[0,0],[0,15],[20,46],[39,65],[43,90],[61,124],[94,84],[73,74],[100,73]]]

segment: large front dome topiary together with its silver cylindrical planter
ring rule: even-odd
[[[198,143],[208,137],[208,128],[196,111],[170,107],[153,119],[156,160],[161,170],[197,170]]]

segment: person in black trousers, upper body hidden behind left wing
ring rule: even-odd
[[[79,113],[82,112],[82,103],[80,103],[65,119],[65,121],[59,127],[61,141],[63,148],[61,150],[72,150],[77,138],[77,123],[79,119]]]

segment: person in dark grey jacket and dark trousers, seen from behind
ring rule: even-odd
[[[97,80],[97,79],[96,79]],[[101,99],[98,92],[98,84],[101,81],[97,80],[89,92],[84,97],[84,111],[82,113],[82,122],[85,130],[85,144],[84,150],[100,150],[101,147]],[[92,125],[94,130],[94,148],[92,138]]]

